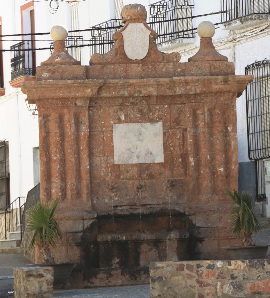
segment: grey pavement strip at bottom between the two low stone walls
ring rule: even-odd
[[[54,297],[61,298],[150,298],[150,296],[149,285],[54,291]]]

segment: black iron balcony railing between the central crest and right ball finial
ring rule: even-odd
[[[150,5],[150,24],[157,43],[193,36],[191,0],[162,0]]]

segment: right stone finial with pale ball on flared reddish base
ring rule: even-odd
[[[192,57],[188,58],[191,61],[228,61],[226,56],[223,56],[215,49],[212,37],[215,34],[215,26],[209,21],[201,22],[197,28],[197,33],[200,39],[199,51]]]

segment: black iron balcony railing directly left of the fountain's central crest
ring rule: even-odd
[[[92,38],[90,38],[89,42],[90,55],[95,53],[104,54],[108,52],[114,44],[113,33],[119,30],[119,27],[122,27],[122,22],[121,20],[116,19],[109,20],[92,27],[94,30],[92,31]]]

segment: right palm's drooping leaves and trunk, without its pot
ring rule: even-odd
[[[232,233],[239,237],[243,233],[243,246],[253,246],[252,234],[257,234],[261,229],[261,223],[254,214],[254,201],[248,192],[240,195],[237,190],[227,194],[232,198],[230,219],[232,221]],[[236,205],[235,205],[236,204]]]

